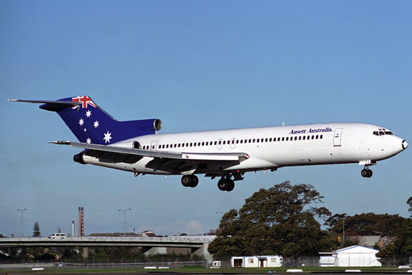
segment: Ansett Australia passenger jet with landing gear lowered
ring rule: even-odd
[[[138,175],[182,175],[185,187],[198,185],[197,175],[218,180],[231,191],[247,172],[287,166],[352,164],[369,166],[393,157],[408,147],[389,129],[365,123],[323,123],[247,129],[158,134],[159,119],[117,121],[89,96],[60,100],[10,100],[41,103],[69,126],[79,142],[54,144],[82,148],[73,156],[93,164]],[[283,124],[283,123],[282,123]]]

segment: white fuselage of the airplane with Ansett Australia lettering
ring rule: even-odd
[[[385,134],[386,133],[386,134]],[[195,174],[240,173],[273,170],[284,166],[320,164],[365,164],[393,157],[407,148],[407,142],[382,126],[362,123],[325,123],[273,126],[249,129],[201,131],[144,135],[112,146],[130,148],[139,142],[150,151],[183,153],[246,153],[249,159],[234,165],[219,162],[199,166]],[[169,175],[146,168],[152,157],[134,164],[99,162],[84,157],[87,163],[127,170],[134,173]]]

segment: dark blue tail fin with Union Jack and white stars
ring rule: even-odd
[[[80,142],[108,145],[161,129],[158,119],[117,121],[89,96],[62,98],[40,108],[58,113]]]

